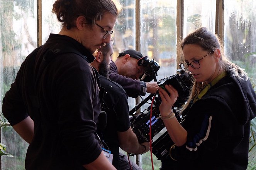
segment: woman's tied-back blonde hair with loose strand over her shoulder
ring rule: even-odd
[[[193,33],[187,35],[186,38],[181,42],[181,50],[183,50],[184,46],[187,44],[200,45],[200,47],[202,47],[203,50],[206,50],[208,52],[220,49],[220,67],[223,70],[229,72],[231,76],[237,77],[237,79],[248,79],[248,75],[246,74],[246,72],[236,64],[229,61],[229,59],[224,55],[224,48],[219,37],[210,32],[209,30],[207,30],[207,28],[201,27],[195,30]],[[202,89],[206,86],[206,83],[204,82],[198,83],[195,81],[195,79],[193,79],[192,81],[193,86],[190,90],[190,96],[188,98],[187,103],[181,108],[181,111],[184,111],[188,107],[190,102],[193,101],[193,99],[195,99],[198,96],[198,94],[202,91]]]

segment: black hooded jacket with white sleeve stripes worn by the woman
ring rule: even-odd
[[[227,72],[185,111],[188,137],[178,147],[178,169],[246,170],[255,101],[251,82]]]

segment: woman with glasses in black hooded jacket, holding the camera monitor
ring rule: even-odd
[[[171,109],[178,93],[159,88],[160,117],[176,144],[178,170],[246,170],[250,120],[256,94],[246,72],[224,56],[218,37],[205,27],[182,42],[180,67],[193,87],[178,122]]]

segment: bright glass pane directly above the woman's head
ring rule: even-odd
[[[200,27],[215,32],[215,14],[216,0],[184,0],[184,37]]]

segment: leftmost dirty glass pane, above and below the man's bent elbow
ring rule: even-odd
[[[37,13],[34,0],[0,0],[0,107],[2,99],[14,82],[20,64],[37,47]],[[2,119],[2,121],[4,121]],[[11,126],[1,128],[1,143],[7,153],[15,156],[1,157],[1,168],[23,170],[27,144]]]

